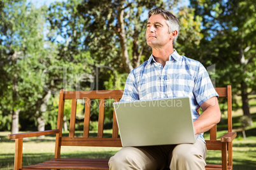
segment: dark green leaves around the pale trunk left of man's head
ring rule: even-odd
[[[132,55],[134,53],[138,55],[139,50],[145,47],[146,17],[142,18],[141,15],[146,15],[146,11],[153,6],[162,7],[164,3],[162,1],[68,1],[50,6],[49,22],[52,29],[57,28],[58,35],[64,39],[70,37],[76,48],[89,50],[97,64],[123,72],[122,57],[120,57],[122,29],[120,22],[124,22],[127,36],[125,45],[130,51],[132,60]],[[120,14],[122,10],[124,10],[123,15]],[[76,37],[72,34],[75,31]],[[75,38],[80,41],[73,42]]]

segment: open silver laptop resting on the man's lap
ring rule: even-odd
[[[123,147],[195,143],[190,98],[113,103]]]

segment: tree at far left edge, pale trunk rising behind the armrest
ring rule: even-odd
[[[30,39],[31,36],[36,37],[32,35],[34,24],[30,23],[34,11],[31,15],[27,14],[28,11],[25,1],[1,1],[1,95],[7,100],[1,101],[1,105],[6,108],[4,111],[11,113],[11,133],[18,132],[18,114],[25,104],[21,95],[24,91],[20,91],[18,86],[22,80],[19,74],[25,71],[20,63],[31,52],[28,46],[36,42]],[[33,39],[38,40],[35,37]]]

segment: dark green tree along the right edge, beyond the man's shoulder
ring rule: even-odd
[[[248,95],[255,91],[256,13],[253,1],[191,0],[195,15],[203,16],[204,39],[199,55],[216,63],[218,86],[232,84],[243,102],[243,114],[251,117]],[[207,49],[207,50],[206,50]]]

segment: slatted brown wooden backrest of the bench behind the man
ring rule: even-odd
[[[228,131],[232,131],[232,99],[231,86],[227,88],[215,88],[220,98],[227,98],[227,117]],[[118,138],[118,126],[113,112],[113,131],[111,138],[103,137],[104,110],[105,100],[113,98],[114,101],[119,101],[122,98],[122,90],[111,91],[64,91],[60,90],[59,96],[59,112],[57,119],[57,129],[62,129],[64,117],[64,101],[72,100],[71,116],[69,122],[69,136],[63,137],[62,131],[56,136],[55,158],[60,157],[60,146],[87,146],[87,147],[122,147],[120,138]],[[85,100],[83,136],[75,137],[75,122],[76,122],[76,107],[77,100]],[[97,138],[89,137],[90,127],[90,106],[91,100],[99,99],[99,117]],[[210,129],[210,140],[206,140],[208,150],[222,150],[220,140],[217,140],[217,125]],[[232,164],[232,143],[229,144],[229,164]]]

